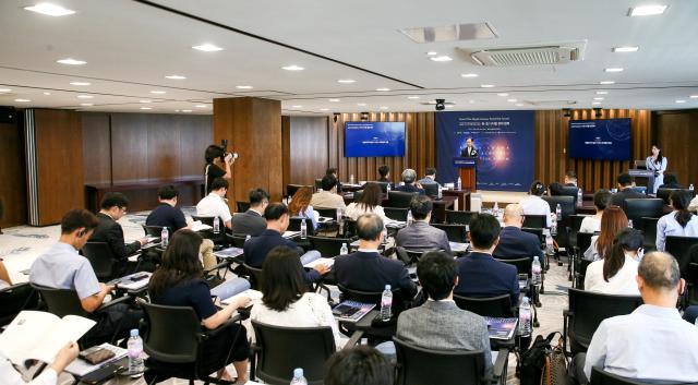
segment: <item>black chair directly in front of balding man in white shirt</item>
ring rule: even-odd
[[[573,356],[587,351],[593,333],[603,320],[630,314],[642,304],[641,297],[611,296],[573,288],[568,291],[568,300],[569,308],[563,312],[563,335],[565,351]]]

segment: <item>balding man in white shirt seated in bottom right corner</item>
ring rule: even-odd
[[[682,320],[676,310],[685,286],[676,260],[652,252],[637,272],[645,304],[601,322],[587,353],[575,357],[576,369],[570,371],[581,383],[591,377],[592,366],[648,383],[698,382],[698,327]]]

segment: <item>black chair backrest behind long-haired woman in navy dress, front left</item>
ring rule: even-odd
[[[167,363],[195,362],[201,322],[194,309],[143,302],[143,349],[153,359]],[[177,320],[177,322],[172,322]]]

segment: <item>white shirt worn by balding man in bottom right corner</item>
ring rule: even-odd
[[[592,366],[629,378],[698,382],[698,327],[674,308],[643,304],[599,325],[587,350],[587,378]]]

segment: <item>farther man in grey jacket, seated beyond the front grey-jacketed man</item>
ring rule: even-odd
[[[410,202],[410,212],[414,221],[401,228],[395,237],[395,243],[408,250],[445,250],[450,253],[446,231],[437,229],[429,221],[434,204],[426,196],[416,196]]]

